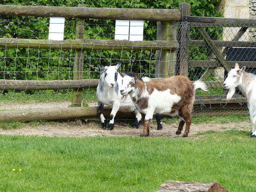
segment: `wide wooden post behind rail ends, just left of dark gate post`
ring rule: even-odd
[[[156,40],[176,40],[175,24],[170,22],[157,22]],[[174,51],[156,50],[155,78],[173,76]]]

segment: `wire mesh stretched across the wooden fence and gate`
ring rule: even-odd
[[[6,16],[0,18],[0,38],[25,38],[48,39],[49,18],[22,16]],[[235,62],[240,66],[247,66],[247,72],[255,72],[255,37],[254,26],[250,24],[238,27],[225,24],[193,24],[192,22],[173,22],[169,26],[159,26],[157,22],[144,22],[143,40],[166,40],[172,37],[175,40],[180,36],[180,31],[186,32],[183,41],[183,49],[186,52],[164,50],[168,46],[154,47],[131,46],[130,50],[124,50],[122,45],[113,44],[112,50],[94,50],[93,44],[89,50],[82,50],[84,56],[84,79],[98,79],[100,69],[98,64],[104,66],[117,64],[123,61],[120,71],[134,71],[141,76],[167,77],[180,74],[181,66],[188,65],[188,78],[191,81],[206,81],[209,92],[198,90],[194,116],[220,115],[220,114],[248,114],[245,96],[237,90],[234,99],[227,101],[227,90],[223,89],[223,81],[227,76],[228,67]],[[182,26],[180,30],[178,27]],[[169,34],[158,34],[158,28],[171,30]],[[76,19],[66,18],[64,39],[75,39]],[[84,24],[85,39],[114,40],[115,23],[113,20],[86,19]],[[83,44],[84,47],[89,44]],[[105,46],[105,44],[100,44]],[[115,50],[114,47],[121,47]],[[165,55],[165,56],[163,56]],[[178,63],[177,58],[184,58]],[[0,48],[0,86],[6,86],[6,80],[72,80],[74,76],[75,49],[42,49],[20,48],[19,45],[12,48]],[[160,62],[167,66],[167,72],[160,70]],[[227,67],[228,66],[228,67]],[[170,70],[169,70],[170,69]],[[24,84],[25,86],[28,84]],[[18,84],[17,84],[18,87]],[[79,86],[78,86],[79,87]],[[88,84],[83,89],[82,106],[96,106],[96,86]],[[78,88],[77,88],[78,89]],[[31,108],[60,108],[71,105],[72,88],[46,89],[46,90],[0,90],[0,110],[19,110]]]

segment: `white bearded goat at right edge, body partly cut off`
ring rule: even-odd
[[[244,72],[245,67],[239,68],[238,63],[235,68],[228,72],[228,77],[223,83],[225,89],[228,89],[227,100],[231,99],[239,87],[247,98],[247,104],[252,121],[251,137],[256,137],[256,75]]]

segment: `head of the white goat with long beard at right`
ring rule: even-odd
[[[228,72],[228,77],[223,83],[225,89],[228,89],[227,99],[231,99],[236,91],[236,87],[242,84],[242,77],[245,67],[239,68],[238,63],[235,64],[235,68]]]

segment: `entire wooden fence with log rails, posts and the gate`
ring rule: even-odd
[[[78,18],[76,25],[75,40],[30,40],[17,38],[0,38],[0,47],[2,48],[38,48],[40,49],[74,49],[75,66],[73,80],[50,80],[50,81],[33,81],[33,80],[0,80],[0,90],[60,90],[72,88],[72,105],[76,108],[65,109],[47,109],[47,110],[18,110],[18,111],[1,111],[0,121],[8,120],[57,120],[57,119],[76,119],[98,117],[96,107],[81,107],[82,104],[82,88],[96,87],[97,79],[82,79],[83,72],[83,50],[157,50],[156,51],[156,78],[165,77],[165,75],[177,71],[177,74],[187,76],[189,67],[216,68],[222,66],[225,73],[234,65],[234,61],[226,61],[226,51],[230,47],[255,47],[256,42],[241,42],[238,39],[249,28],[256,24],[255,19],[232,19],[232,18],[202,18],[190,16],[190,4],[183,2],[179,5],[179,10],[162,10],[162,9],[120,9],[120,8],[88,8],[79,4],[78,7],[52,7],[52,6],[12,6],[0,5],[0,15],[18,15],[18,16],[40,16],[40,17],[66,17]],[[96,40],[83,39],[84,34],[84,18],[98,19],[119,19],[119,20],[151,20],[157,21],[157,41],[136,41],[130,42],[126,40]],[[171,31],[172,22],[178,22],[178,30]],[[186,24],[189,28],[197,28],[204,40],[191,40],[189,38],[189,29],[183,30]],[[241,27],[239,33],[234,36],[231,41],[212,40],[204,30],[206,26],[230,26]],[[165,28],[162,28],[164,26]],[[163,30],[164,29],[164,30]],[[115,45],[115,46],[113,46]],[[214,61],[194,61],[188,60],[189,46],[208,46],[213,50],[216,56]],[[217,52],[218,47],[226,47],[222,54]],[[174,57],[174,51],[178,49],[176,64],[170,58]],[[162,53],[160,54],[160,50]],[[169,65],[167,64],[169,62]],[[171,64],[172,63],[172,64]],[[171,65],[170,65],[171,64]],[[254,67],[255,62],[240,62],[243,66]],[[169,66],[169,67],[168,67]],[[175,66],[175,67],[174,67]],[[221,81],[208,81],[208,87],[222,88]],[[232,109],[241,109],[241,104],[233,99],[226,101],[220,99],[219,96],[197,96],[196,105],[204,104],[205,108],[209,108],[209,113],[200,112],[197,115],[211,115],[212,112],[222,109],[220,104],[225,104],[226,109],[230,109],[230,113],[234,114]],[[246,106],[246,98],[241,97],[240,102],[244,108]],[[104,108],[104,113],[110,114],[110,108]],[[246,112],[245,112],[246,113]],[[221,114],[229,114],[221,112]],[[123,114],[119,114],[122,116]],[[118,116],[118,114],[117,114]],[[125,114],[125,116],[134,116],[133,114]]]

